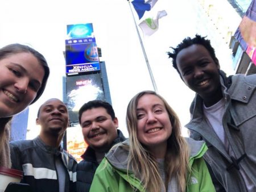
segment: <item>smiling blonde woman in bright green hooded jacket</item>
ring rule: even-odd
[[[181,136],[179,118],[154,91],[135,95],[126,114],[129,140],[98,167],[90,191],[215,191],[204,141]]]

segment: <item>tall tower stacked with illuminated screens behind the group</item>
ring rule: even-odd
[[[112,103],[108,75],[104,61],[100,61],[92,23],[67,26],[65,40],[65,72],[63,78],[63,101],[69,112],[70,127],[64,137],[64,148],[77,161],[81,160],[87,144],[82,136],[78,119],[84,103],[98,99]]]

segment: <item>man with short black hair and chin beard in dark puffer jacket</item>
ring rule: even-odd
[[[85,192],[90,190],[94,173],[105,153],[125,137],[117,130],[118,119],[113,107],[104,101],[85,103],[79,110],[79,123],[88,148],[77,165],[77,191]]]

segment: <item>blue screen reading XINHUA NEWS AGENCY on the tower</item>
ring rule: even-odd
[[[66,73],[100,70],[94,37],[65,41]]]

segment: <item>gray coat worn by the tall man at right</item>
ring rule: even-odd
[[[204,158],[226,191],[246,192],[242,167],[256,186],[256,75],[238,74],[229,78],[221,74],[225,113],[224,131],[234,156],[230,156],[203,115],[203,99],[196,94],[191,105],[192,119],[185,127],[195,140],[205,140],[208,151]],[[231,80],[231,81],[230,81]],[[218,190],[218,186],[216,186]]]

